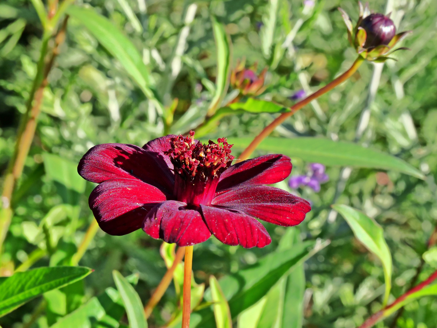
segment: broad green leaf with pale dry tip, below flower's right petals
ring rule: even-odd
[[[226,299],[229,300],[232,319],[264,297],[291,268],[324,247],[323,245],[315,250],[313,246],[313,241],[303,242],[291,249],[266,255],[256,264],[239,270],[233,275],[222,277],[219,284]],[[210,289],[205,292],[205,299],[212,300]],[[202,321],[198,327],[212,327],[213,313],[211,309],[203,309],[198,313],[202,315]]]

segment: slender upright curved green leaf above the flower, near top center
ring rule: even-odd
[[[212,17],[212,30],[214,31],[215,46],[217,48],[217,77],[215,79],[215,95],[208,108],[208,115],[215,113],[215,109],[220,105],[229,86],[229,72],[231,63],[231,48],[228,36],[226,35],[223,24]]]

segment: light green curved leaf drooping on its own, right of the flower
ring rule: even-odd
[[[384,230],[375,220],[350,206],[336,204],[332,207],[344,217],[355,237],[381,260],[385,279],[383,304],[387,304],[392,287],[392,255],[384,239]]]

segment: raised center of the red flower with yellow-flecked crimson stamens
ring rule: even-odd
[[[194,131],[184,138],[172,138],[171,149],[166,152],[174,166],[174,195],[188,205],[211,205],[220,174],[231,164],[232,145],[226,138],[217,143],[209,140],[202,144],[194,140]]]

